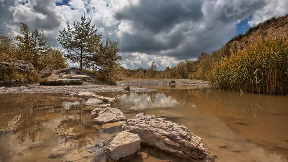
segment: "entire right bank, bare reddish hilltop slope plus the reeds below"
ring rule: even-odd
[[[199,73],[218,89],[288,94],[287,38],[288,15],[269,19],[213,52]]]

